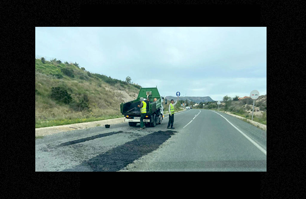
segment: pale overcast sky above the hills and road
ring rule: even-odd
[[[267,94],[266,27],[35,27],[35,55],[162,96]]]

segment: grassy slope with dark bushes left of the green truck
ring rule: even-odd
[[[35,59],[35,128],[122,117],[120,103],[140,88],[77,63]]]

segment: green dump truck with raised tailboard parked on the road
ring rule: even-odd
[[[162,106],[163,97],[159,95],[157,88],[141,88],[137,99],[120,104],[120,111],[125,116],[125,121],[129,122],[130,126],[136,126],[140,123],[140,97],[147,103],[147,114],[144,118],[144,123],[155,127],[156,124],[161,124],[164,117],[164,108]],[[157,101],[154,101],[154,98]]]

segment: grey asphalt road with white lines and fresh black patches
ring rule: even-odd
[[[222,117],[223,116],[223,117]],[[128,123],[35,140],[35,171],[267,171],[267,132],[211,110],[174,114],[175,129]]]

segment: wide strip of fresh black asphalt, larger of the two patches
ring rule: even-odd
[[[174,135],[174,132],[176,131],[158,131],[148,134],[63,171],[119,171],[134,160],[158,149],[162,143]]]

